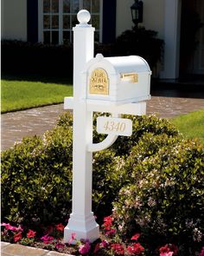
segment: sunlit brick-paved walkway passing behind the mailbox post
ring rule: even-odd
[[[171,118],[204,108],[204,98],[152,96],[147,103],[147,115]],[[22,137],[42,135],[53,128],[63,114],[63,104],[33,108],[2,115],[1,148],[10,148]]]

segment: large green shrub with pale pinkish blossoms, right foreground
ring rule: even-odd
[[[152,252],[174,243],[179,255],[194,255],[201,246],[204,220],[201,145],[146,134],[132,148],[124,168],[131,182],[113,204],[122,236],[141,232]]]

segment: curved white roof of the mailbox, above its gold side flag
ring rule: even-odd
[[[150,66],[141,56],[105,57],[118,74],[131,72],[151,73]]]

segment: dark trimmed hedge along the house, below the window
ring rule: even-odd
[[[115,43],[95,43],[94,56],[143,56],[151,69],[160,61],[163,41],[156,32],[140,28],[127,30],[118,36]],[[37,75],[46,79],[73,76],[73,44],[48,45],[22,41],[2,41],[3,75]]]

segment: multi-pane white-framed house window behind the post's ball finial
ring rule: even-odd
[[[86,9],[92,15],[95,41],[101,41],[102,0],[38,0],[39,41],[48,44],[73,42],[73,27],[78,23],[77,13]]]

